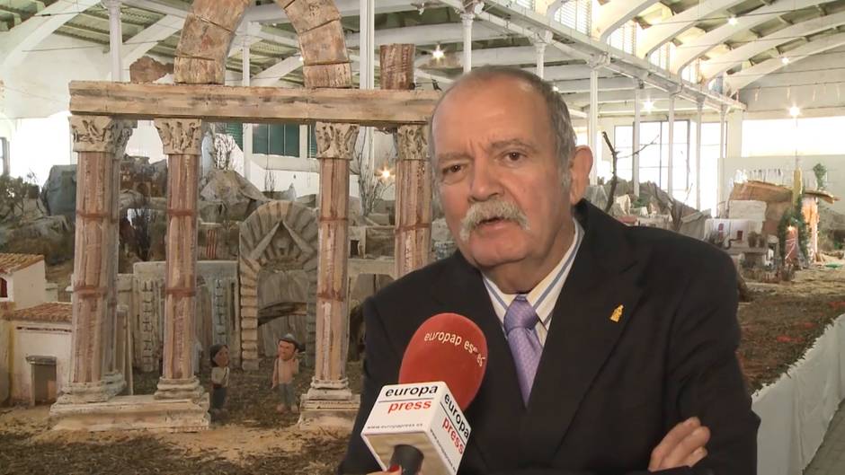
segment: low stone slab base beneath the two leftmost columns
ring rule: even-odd
[[[53,430],[143,430],[198,432],[209,428],[209,398],[157,400],[152,395],[118,396],[106,402],[54,404],[49,411]]]

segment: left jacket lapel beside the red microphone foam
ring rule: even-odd
[[[504,434],[513,433],[525,408],[517,383],[511,348],[487,295],[481,274],[456,252],[445,275],[432,287],[443,312],[456,312],[475,321],[487,340],[487,369],[476,399],[467,408],[472,427],[470,438],[485,465],[516,468],[518,453]],[[469,453],[467,453],[469,455]]]

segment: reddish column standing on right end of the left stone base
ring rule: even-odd
[[[167,154],[165,350],[156,399],[204,396],[191,367],[197,290],[200,119],[156,119]]]

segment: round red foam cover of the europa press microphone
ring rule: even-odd
[[[487,367],[487,340],[458,313],[438,313],[416,330],[399,369],[399,383],[442,381],[461,410],[476,397]]]

